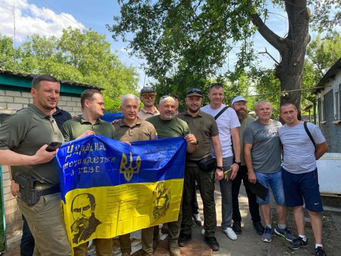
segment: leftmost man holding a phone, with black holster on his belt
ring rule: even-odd
[[[31,89],[33,104],[8,117],[0,127],[0,164],[11,166],[16,182],[19,182],[19,175],[34,177],[34,189],[39,189],[43,195],[31,205],[21,198],[22,193],[29,191],[26,186],[21,186],[17,195],[19,210],[36,241],[34,255],[72,254],[58,192],[57,151],[46,151],[51,142],[64,141],[51,116],[51,110],[58,102],[59,89],[59,82],[54,77],[35,77]]]

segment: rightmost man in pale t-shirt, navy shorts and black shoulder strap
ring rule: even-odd
[[[292,103],[285,103],[280,108],[281,118],[286,124],[278,130],[283,144],[283,184],[285,203],[293,207],[294,219],[299,233],[288,247],[299,249],[308,246],[304,235],[303,198],[305,209],[311,218],[311,226],[315,237],[315,254],[324,256],[322,245],[322,219],[323,211],[316,160],[321,158],[329,147],[318,126],[307,123],[307,129],[313,141],[304,129],[304,123],[297,119],[297,109]],[[315,151],[315,143],[318,149]]]

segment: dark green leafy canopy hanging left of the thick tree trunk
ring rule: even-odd
[[[183,83],[188,77],[209,79],[225,64],[232,44],[254,33],[250,15],[255,8],[245,0],[118,2],[121,16],[107,28],[114,39],[129,42],[131,55],[147,60],[147,74],[160,82],[174,74]],[[254,1],[255,6],[262,2]]]

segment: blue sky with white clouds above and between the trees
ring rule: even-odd
[[[133,61],[124,55],[127,54],[126,50],[124,50],[124,48],[127,47],[127,44],[122,41],[115,42],[105,27],[105,24],[112,25],[114,23],[114,15],[119,15],[120,6],[118,5],[117,0],[45,1],[74,22],[60,15],[43,0],[0,0],[0,33],[7,36],[13,36],[13,16],[11,6],[15,5],[17,46],[25,40],[26,35],[38,33],[40,35],[56,35],[58,37],[61,35],[61,30],[63,28],[68,26],[79,28],[77,26],[78,24],[87,29],[92,27],[93,30],[101,34],[106,34],[107,40],[112,43],[114,48],[120,51],[116,53],[119,56],[119,59],[126,65],[139,67],[139,64],[136,61]],[[273,9],[270,6],[268,7],[271,12],[278,13],[279,15],[271,16],[267,21],[267,25],[279,36],[284,37],[285,33],[287,32],[287,22],[284,18],[286,14],[283,11]],[[312,35],[312,38],[314,38],[314,35]],[[266,47],[268,52],[270,52],[274,58],[276,58],[278,61],[280,60],[278,52],[259,34],[257,34],[254,39],[254,47],[259,52],[264,52]],[[234,52],[238,52],[238,49],[234,49]],[[267,56],[262,55],[260,57],[262,65],[267,68],[274,67],[274,62]],[[143,59],[137,59],[136,57],[133,57],[133,59],[136,59],[140,63],[144,62]],[[235,60],[235,54],[231,52],[228,59],[230,69],[233,68]],[[227,65],[225,66],[225,69],[227,69]],[[142,87],[145,74],[143,70],[139,68],[137,71],[140,75],[140,81],[138,85],[139,87]],[[148,81],[154,81],[154,79],[147,77],[146,82],[148,83]]]

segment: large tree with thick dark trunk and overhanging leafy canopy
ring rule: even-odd
[[[317,1],[317,0],[316,0]],[[257,30],[280,53],[274,76],[281,90],[301,89],[310,10],[307,0],[272,0],[288,17],[285,37],[266,24],[265,0],[118,0],[121,15],[107,25],[113,38],[129,42],[131,54],[146,59],[149,76],[158,81],[174,74],[206,80],[216,76],[233,45],[242,42],[237,68],[247,68],[254,60],[252,38]],[[336,3],[337,6],[340,2]],[[331,15],[332,9],[325,9]],[[315,19],[318,21],[318,19]],[[251,25],[253,24],[253,25]],[[284,32],[285,33],[285,32]],[[283,33],[283,34],[284,34]],[[133,39],[132,35],[133,34]],[[179,86],[179,84],[177,84]],[[281,103],[300,108],[301,91],[288,93]]]

